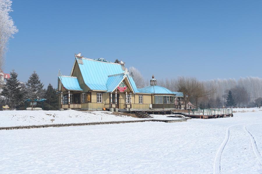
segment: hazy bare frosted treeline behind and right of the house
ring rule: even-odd
[[[150,85],[149,80],[145,80],[139,70],[134,67],[130,67],[129,71],[134,75],[133,78],[138,88]],[[230,107],[261,106],[262,78],[259,77],[241,77],[238,80],[213,79],[206,81],[199,81],[194,77],[156,79],[157,85],[168,88],[171,91],[185,91],[189,94],[188,101],[200,107],[229,107],[226,100],[229,91],[232,92],[234,100],[234,106]],[[185,81],[187,81],[187,83],[185,83]],[[181,86],[181,83],[184,83],[184,85]],[[200,95],[199,92],[201,92],[202,95]]]

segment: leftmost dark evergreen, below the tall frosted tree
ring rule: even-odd
[[[14,109],[18,108],[24,103],[25,93],[21,89],[21,85],[17,79],[18,74],[15,70],[10,72],[10,78],[6,80],[6,84],[3,88],[1,95],[6,97],[6,102],[9,107]]]

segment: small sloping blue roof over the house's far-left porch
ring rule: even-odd
[[[63,84],[65,89],[83,91],[76,77],[59,76],[59,79],[61,80],[61,83]]]

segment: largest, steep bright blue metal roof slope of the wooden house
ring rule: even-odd
[[[91,90],[107,91],[109,75],[122,74],[124,70],[120,64],[108,63],[92,59],[82,59],[83,64],[78,64],[85,84]]]

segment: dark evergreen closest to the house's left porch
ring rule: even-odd
[[[47,86],[44,98],[47,99],[44,102],[45,110],[58,110],[56,89],[51,84]]]

